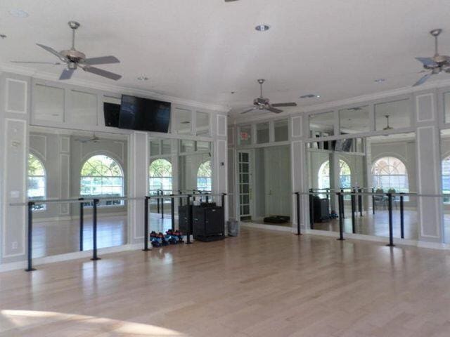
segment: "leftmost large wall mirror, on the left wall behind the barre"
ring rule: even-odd
[[[127,195],[127,136],[37,126],[29,136],[29,199]],[[92,246],[92,206],[91,201],[84,203],[85,249]],[[33,257],[79,251],[79,204],[38,204],[33,219]],[[98,219],[98,248],[127,243],[127,201],[101,201]]]

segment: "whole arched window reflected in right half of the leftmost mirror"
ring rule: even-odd
[[[87,159],[81,171],[80,194],[83,197],[123,197],[124,173],[113,158],[98,154]],[[105,201],[106,205],[122,205],[121,200]]]

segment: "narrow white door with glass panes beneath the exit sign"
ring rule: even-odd
[[[238,152],[240,220],[252,219],[252,171],[250,151]]]

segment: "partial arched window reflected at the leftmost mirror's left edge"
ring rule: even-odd
[[[29,200],[46,198],[46,174],[44,164],[33,154],[28,154],[28,189]],[[46,205],[34,205],[34,210],[45,210]]]

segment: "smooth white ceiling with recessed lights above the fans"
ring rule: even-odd
[[[30,16],[13,17],[15,8]],[[414,57],[433,53],[430,29],[444,29],[441,51],[450,54],[449,13],[448,0],[2,0],[0,34],[8,37],[0,39],[0,62],[56,61],[35,44],[70,47],[67,22],[78,20],[79,51],[122,61],[103,66],[123,75],[117,85],[236,111],[252,103],[264,78],[272,103],[302,107],[413,84],[422,76]],[[271,29],[255,31],[260,23]],[[34,70],[57,75],[61,67]],[[137,81],[141,74],[149,80]],[[113,82],[85,72],[75,78]],[[307,93],[321,98],[298,99]]]

